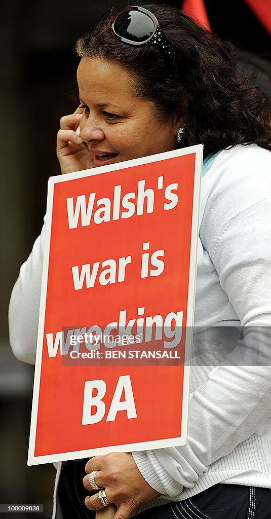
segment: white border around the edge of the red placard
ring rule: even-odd
[[[195,173],[194,173],[194,196],[193,196],[193,214],[192,214],[192,229],[191,229],[191,252],[189,265],[189,285],[187,298],[187,319],[186,319],[186,341],[185,341],[185,364],[184,364],[184,379],[183,379],[183,401],[182,401],[182,427],[180,438],[169,438],[164,440],[154,440],[148,442],[137,442],[123,445],[111,445],[101,448],[89,448],[85,450],[76,450],[73,452],[65,452],[59,454],[51,454],[46,456],[35,456],[35,439],[38,413],[38,398],[39,398],[39,384],[40,372],[42,367],[42,353],[43,353],[43,338],[44,338],[44,324],[45,324],[45,309],[46,309],[46,295],[47,295],[47,280],[49,268],[49,253],[50,253],[50,237],[52,224],[52,206],[53,206],[53,191],[55,184],[59,182],[66,182],[74,179],[81,179],[91,175],[99,175],[102,173],[118,171],[133,166],[141,166],[151,162],[157,162],[168,158],[181,157],[183,155],[195,154]],[[147,157],[140,157],[124,162],[117,162],[109,166],[100,166],[98,168],[87,169],[84,171],[77,171],[65,175],[57,175],[50,177],[48,180],[48,197],[47,197],[47,211],[46,211],[46,226],[45,226],[45,246],[44,246],[44,261],[42,274],[42,289],[40,295],[39,306],[39,323],[37,336],[37,353],[35,363],[34,387],[33,387],[33,401],[32,414],[30,426],[29,439],[29,453],[28,465],[39,465],[41,463],[50,463],[54,461],[66,461],[69,459],[86,458],[88,456],[96,456],[100,454],[109,454],[111,452],[130,452],[132,450],[147,450],[154,448],[178,447],[186,444],[187,425],[188,425],[188,404],[189,404],[189,374],[190,374],[190,358],[191,347],[193,340],[193,324],[194,324],[194,306],[195,306],[195,288],[196,288],[196,272],[197,272],[197,242],[198,242],[198,223],[199,223],[199,204],[200,204],[200,183],[202,171],[202,157],[203,145],[189,146],[187,148],[175,149],[169,152],[149,155]]]

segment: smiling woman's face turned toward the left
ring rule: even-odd
[[[135,97],[131,76],[119,65],[82,58],[77,81],[80,103],[85,107],[80,134],[95,167],[177,147],[177,116],[158,121],[150,102]]]

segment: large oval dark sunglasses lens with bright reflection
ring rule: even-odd
[[[155,24],[145,13],[127,10],[114,20],[114,32],[121,38],[141,43],[154,34]]]

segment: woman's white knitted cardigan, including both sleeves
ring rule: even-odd
[[[173,501],[222,481],[271,488],[271,154],[236,146],[206,160],[203,173],[188,443],[133,453]],[[43,248],[44,227],[9,307],[12,350],[30,363]]]

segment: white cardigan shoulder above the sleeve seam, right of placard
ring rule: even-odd
[[[200,235],[215,235],[238,214],[271,199],[271,153],[255,144],[221,151],[204,170]],[[271,216],[271,215],[270,215]]]

